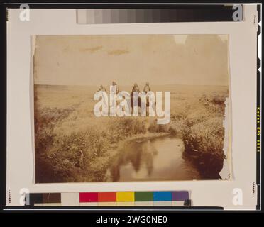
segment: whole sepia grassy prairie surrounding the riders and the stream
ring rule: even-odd
[[[122,88],[121,88],[122,89]],[[171,121],[93,114],[94,87],[35,86],[36,182],[102,182],[119,141],[145,133],[182,138],[185,154],[208,178],[224,160],[226,87],[154,87],[171,92]]]

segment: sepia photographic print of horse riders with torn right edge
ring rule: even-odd
[[[36,35],[33,79],[36,183],[229,179],[228,35]]]

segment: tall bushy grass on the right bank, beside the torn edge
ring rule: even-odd
[[[225,97],[199,100],[200,108],[185,118],[181,136],[185,153],[206,179],[219,179],[224,155]]]

